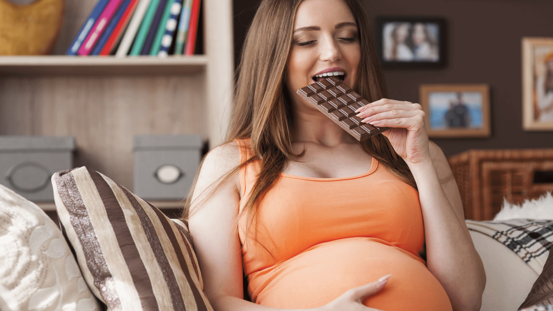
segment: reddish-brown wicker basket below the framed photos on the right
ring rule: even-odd
[[[549,180],[553,149],[469,150],[453,155],[448,162],[466,219],[492,220],[501,210],[503,198],[520,204],[553,191],[553,180]]]

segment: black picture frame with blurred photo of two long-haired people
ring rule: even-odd
[[[447,65],[447,22],[441,17],[379,16],[375,45],[383,69]]]

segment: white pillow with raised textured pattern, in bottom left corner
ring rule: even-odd
[[[100,311],[64,236],[35,204],[0,185],[0,309]]]

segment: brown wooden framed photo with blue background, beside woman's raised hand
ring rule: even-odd
[[[487,84],[423,84],[419,95],[429,137],[491,135]]]

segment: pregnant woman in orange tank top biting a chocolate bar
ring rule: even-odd
[[[358,142],[296,95],[329,75],[392,129]],[[479,310],[486,277],[447,160],[419,104],[383,97],[358,0],[260,4],[228,142],[184,214],[215,310]]]

